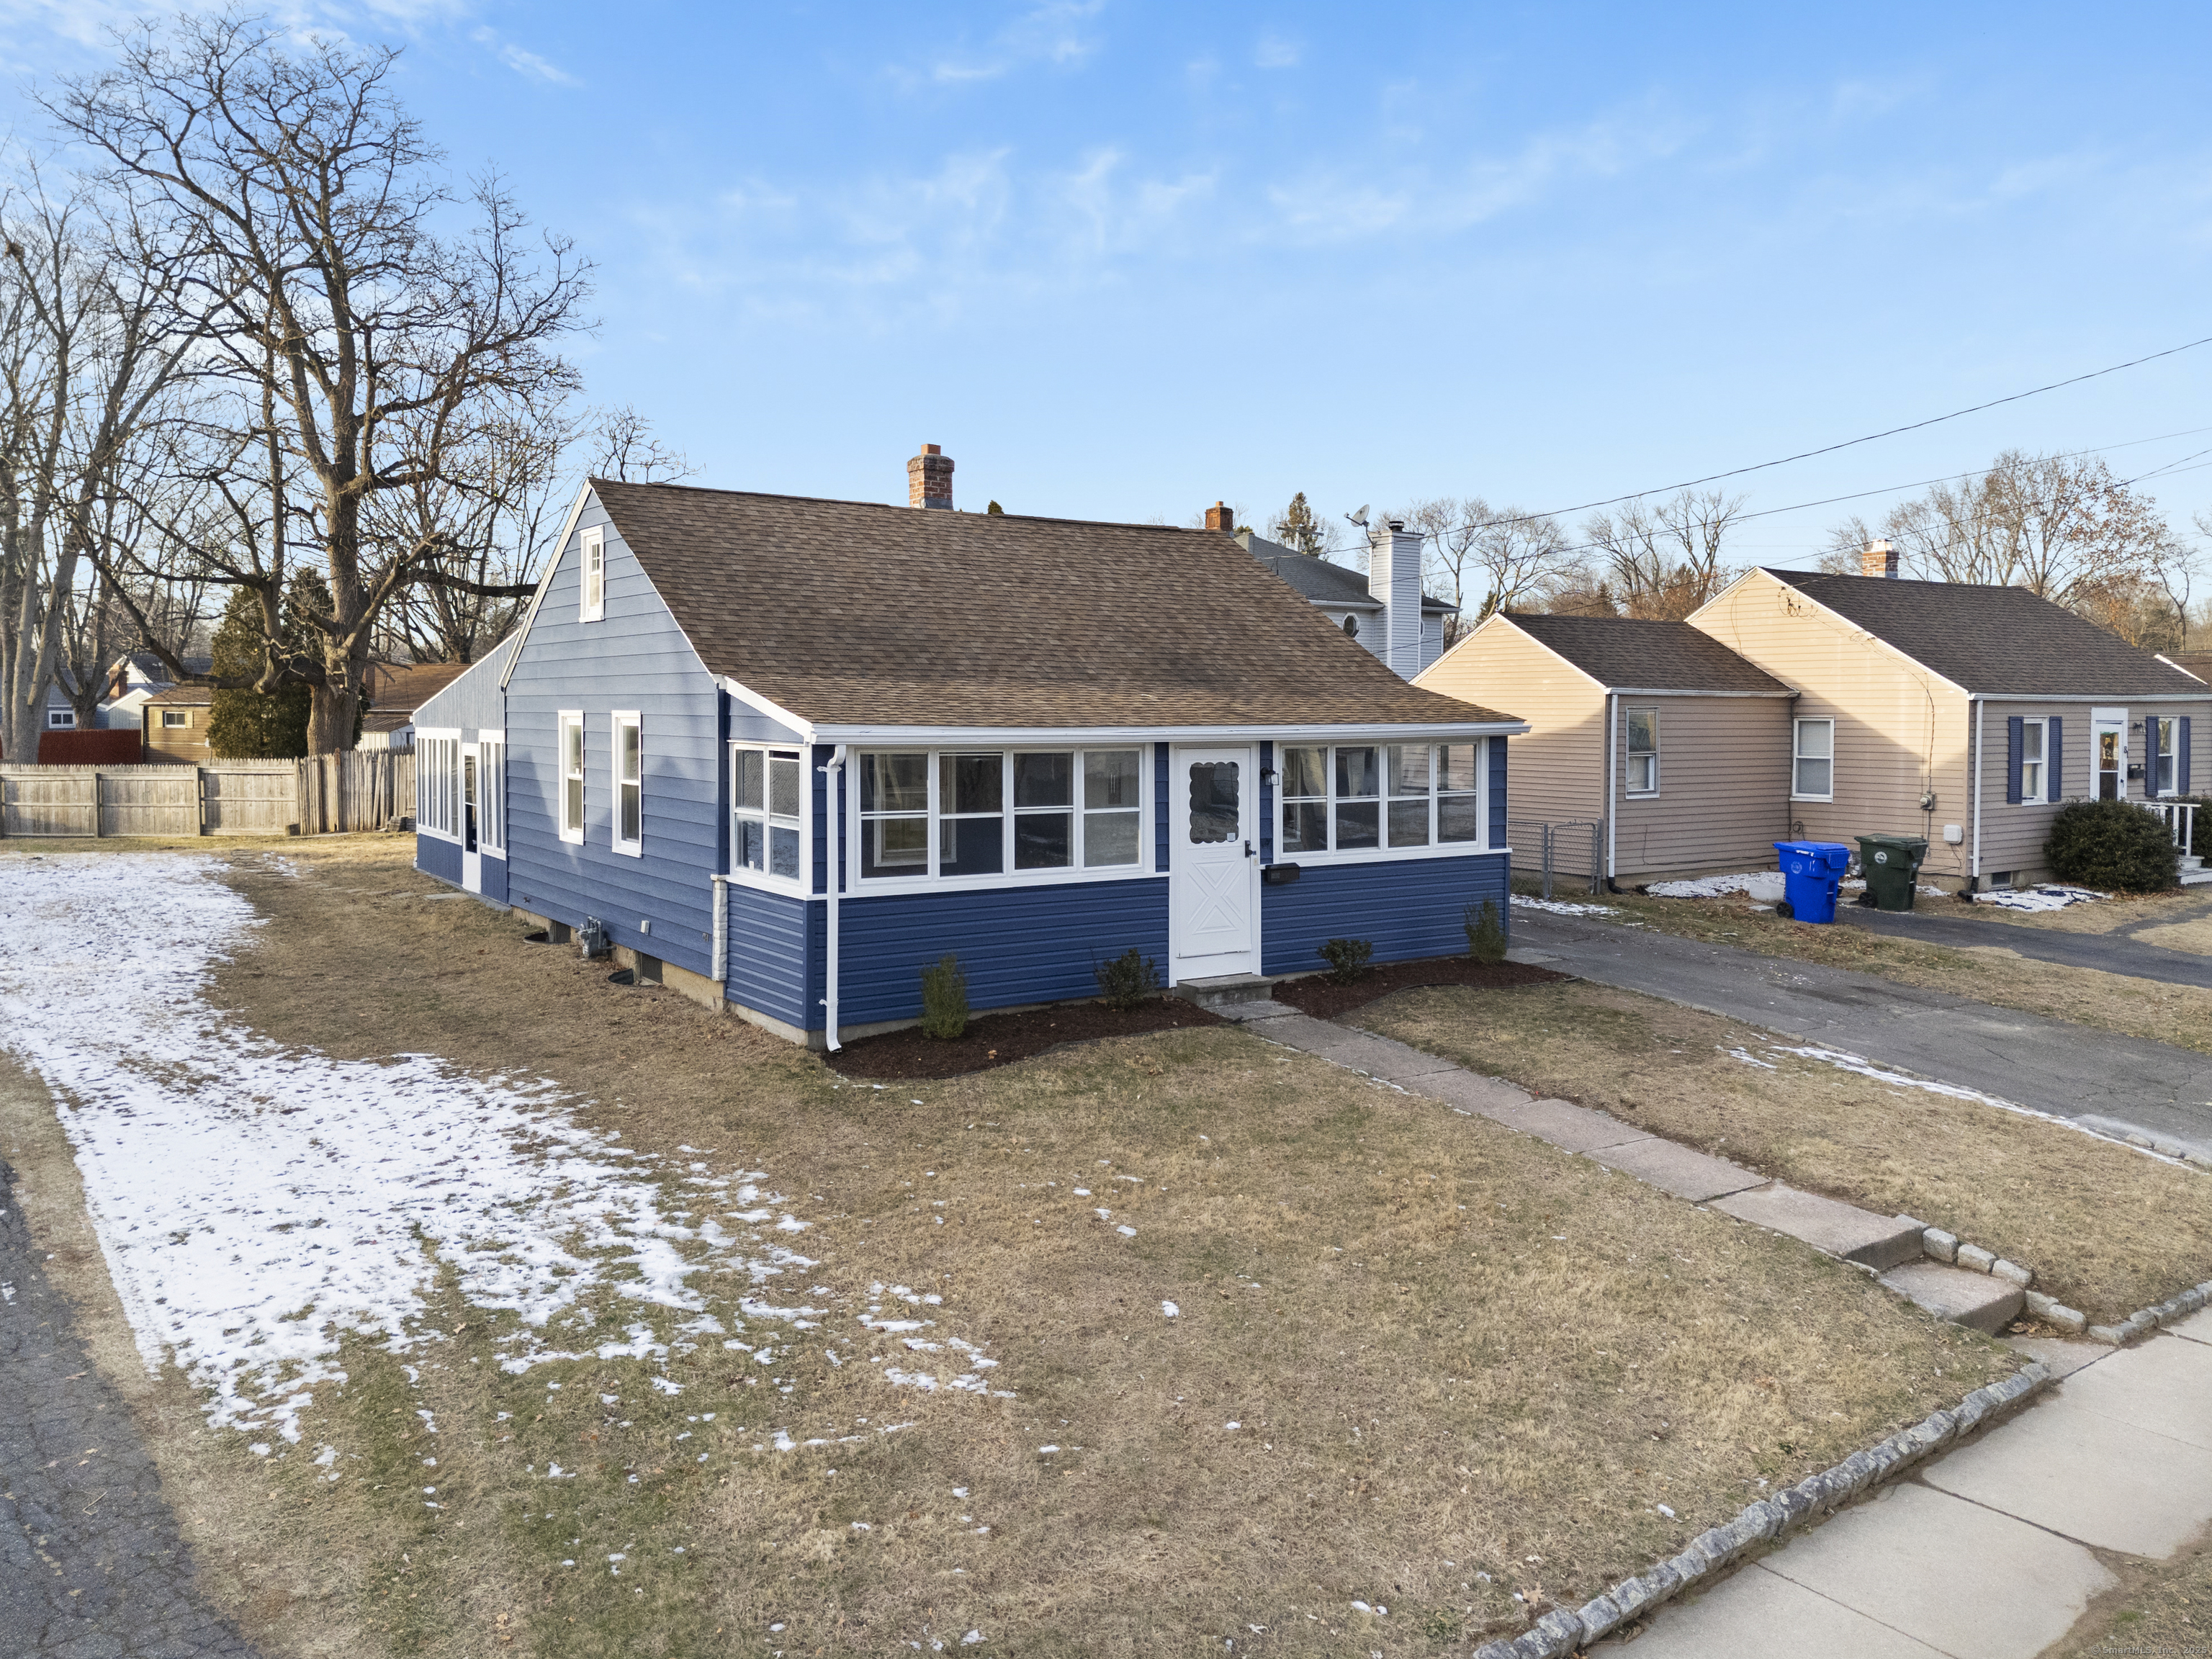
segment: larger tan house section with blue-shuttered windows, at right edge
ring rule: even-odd
[[[2026,588],[1761,568],[1690,626],[1796,688],[1794,834],[1927,836],[1924,880],[2044,880],[2066,801],[2174,801],[2208,779],[2212,686]]]

